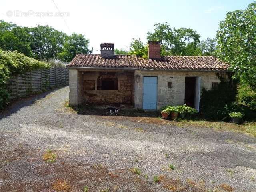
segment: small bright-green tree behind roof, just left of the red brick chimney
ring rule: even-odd
[[[132,39],[130,44],[130,51],[128,52],[131,55],[136,55],[140,57],[148,57],[148,46],[144,44],[140,38]]]

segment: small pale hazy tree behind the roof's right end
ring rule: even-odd
[[[216,39],[208,37],[202,40],[198,47],[202,51],[202,56],[216,56]]]

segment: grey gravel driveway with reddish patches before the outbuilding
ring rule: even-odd
[[[256,191],[256,138],[76,114],[65,107],[68,91],[20,100],[0,116],[0,191]],[[43,160],[48,149],[56,162]]]

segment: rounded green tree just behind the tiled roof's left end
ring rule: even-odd
[[[78,53],[88,53],[89,40],[82,34],[73,33],[66,38],[62,52],[58,57],[64,62],[70,62]]]

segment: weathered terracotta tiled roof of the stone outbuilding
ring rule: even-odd
[[[146,59],[135,55],[115,55],[114,58],[105,59],[100,54],[77,54],[67,67],[223,71],[229,65],[212,56],[164,56],[161,59]]]

